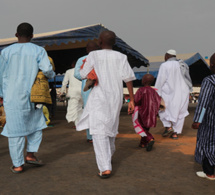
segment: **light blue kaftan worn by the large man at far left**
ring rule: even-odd
[[[27,136],[46,128],[43,109],[30,102],[31,88],[42,70],[48,78],[55,76],[45,49],[33,43],[16,43],[1,51],[0,97],[6,113],[2,135]]]

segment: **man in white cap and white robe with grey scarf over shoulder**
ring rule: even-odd
[[[176,59],[176,51],[171,49],[165,54],[165,62],[161,64],[155,83],[158,94],[163,98],[166,109],[159,112],[165,131],[163,137],[178,139],[184,119],[188,112],[189,92],[192,82],[189,68],[182,60]]]

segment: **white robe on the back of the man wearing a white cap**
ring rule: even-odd
[[[155,88],[166,104],[165,117],[176,121],[179,115],[188,115],[185,107],[189,100],[189,88],[182,77],[177,60],[168,60],[161,64]]]

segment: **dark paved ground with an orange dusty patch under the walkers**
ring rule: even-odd
[[[46,165],[25,166],[25,172],[10,172],[7,139],[0,136],[0,194],[214,194],[215,182],[198,178],[201,166],[194,161],[196,130],[190,128],[195,105],[190,105],[179,140],[163,138],[158,121],[151,129],[156,142],[151,152],[138,148],[131,116],[123,108],[116,139],[113,175],[107,180],[98,170],[92,144],[85,132],[76,132],[65,121],[65,107],[58,107],[54,127],[44,130],[38,157]]]

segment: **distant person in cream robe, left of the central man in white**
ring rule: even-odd
[[[75,125],[77,125],[77,122],[83,112],[83,100],[81,96],[82,83],[74,77],[74,65],[75,62],[72,65],[73,68],[66,71],[60,93],[66,93],[66,87],[67,85],[69,85],[66,95],[66,97],[68,98],[66,119],[68,123],[74,122]]]

